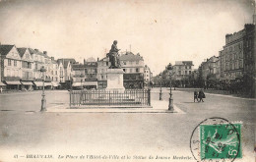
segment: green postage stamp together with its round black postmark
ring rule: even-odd
[[[242,158],[242,123],[230,123],[224,118],[209,118],[201,122],[190,138],[190,149],[197,161],[234,161]]]

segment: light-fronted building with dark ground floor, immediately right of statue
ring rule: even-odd
[[[140,54],[126,52],[119,56],[124,71],[123,81],[125,88],[144,87],[144,59]]]

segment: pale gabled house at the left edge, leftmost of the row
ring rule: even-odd
[[[22,58],[15,45],[0,45],[1,81],[7,89],[20,89]]]

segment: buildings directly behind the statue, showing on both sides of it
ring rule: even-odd
[[[143,88],[150,85],[152,73],[145,65],[143,57],[132,52],[119,56],[123,69],[123,84],[125,88]],[[73,64],[73,86],[86,88],[105,88],[107,86],[107,70],[111,66],[107,57],[95,60],[89,58],[84,64]]]

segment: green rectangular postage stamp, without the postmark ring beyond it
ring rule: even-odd
[[[204,159],[242,157],[241,124],[200,125],[200,155]]]

